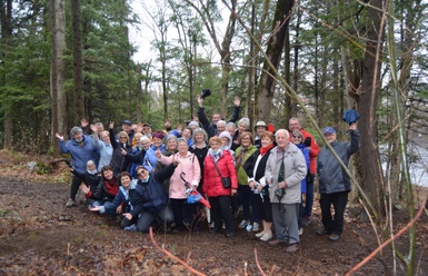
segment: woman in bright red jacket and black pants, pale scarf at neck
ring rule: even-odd
[[[211,233],[221,230],[222,221],[226,226],[226,237],[235,237],[233,217],[230,209],[230,197],[236,195],[238,189],[238,178],[233,165],[233,157],[229,150],[222,150],[221,138],[211,137],[209,139],[210,149],[205,158],[203,165],[203,193],[208,196],[211,204],[211,216],[215,227]],[[230,187],[225,188],[221,178],[230,178]]]

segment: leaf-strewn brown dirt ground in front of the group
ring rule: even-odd
[[[52,169],[38,174],[37,168],[27,167],[31,160]],[[192,275],[153,240],[206,275],[344,275],[378,247],[374,227],[356,216],[359,206],[348,207],[344,235],[332,243],[315,234],[320,227],[316,205],[300,250],[288,254],[245,229],[238,229],[235,238],[209,234],[206,223],[200,233],[155,233],[152,240],[148,234],[121,230],[117,221],[90,213],[81,194],[78,207],[64,207],[68,195],[69,176],[62,162],[0,150],[0,275]],[[405,210],[394,214],[395,233],[406,226],[407,217]],[[416,272],[427,275],[426,213],[417,223],[417,236]],[[396,246],[407,253],[407,233]],[[394,267],[386,247],[356,274],[390,275]],[[405,274],[398,260],[396,267],[398,275]]]

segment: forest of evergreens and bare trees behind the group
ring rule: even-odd
[[[149,3],[150,2],[150,3]],[[133,10],[132,6],[140,9]],[[286,128],[298,117],[322,146],[356,109],[361,148],[350,171],[355,201],[389,227],[415,216],[409,167],[427,165],[425,0],[0,0],[0,147],[58,157],[57,131],[90,122],[185,124],[202,89],[208,114]],[[150,55],[135,61],[130,28]],[[173,33],[173,34],[172,34]],[[150,38],[150,39],[148,39]],[[422,174],[424,175],[424,174]],[[361,211],[361,214],[365,211]],[[397,258],[415,268],[415,227]]]

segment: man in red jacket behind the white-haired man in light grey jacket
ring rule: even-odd
[[[317,174],[317,157],[319,154],[319,147],[317,145],[317,141],[313,139],[313,136],[311,136],[308,131],[306,131],[301,125],[298,118],[291,118],[288,121],[288,129],[290,130],[290,134],[295,130],[300,130],[303,138],[302,141],[307,149],[309,150],[309,171],[306,177],[306,198],[303,204],[303,218],[302,218],[302,225],[307,226],[310,224],[310,216],[312,215],[312,205],[313,205],[313,179],[315,174]],[[290,141],[291,141],[291,135],[290,135]]]

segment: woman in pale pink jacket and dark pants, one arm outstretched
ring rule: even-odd
[[[187,189],[196,190],[200,179],[200,167],[198,158],[188,151],[188,145],[186,138],[179,138],[177,140],[178,152],[166,157],[156,151],[156,156],[163,165],[171,164],[175,159],[178,160],[178,166],[169,180],[169,198],[172,208],[172,213],[176,220],[176,233],[186,229],[183,223],[183,208],[189,214],[191,229],[195,229],[198,221],[193,221],[197,215],[196,204],[185,204],[187,200]],[[185,180],[183,180],[185,179]],[[187,187],[188,186],[188,187]]]

